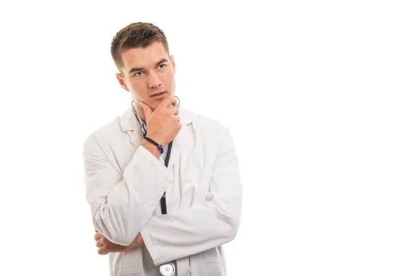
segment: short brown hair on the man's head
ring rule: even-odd
[[[170,55],[168,42],[164,32],[152,23],[137,22],[130,23],[115,34],[110,45],[110,54],[115,62],[119,72],[124,67],[121,54],[125,50],[132,48],[146,48],[151,43],[158,41],[164,46],[164,49]]]

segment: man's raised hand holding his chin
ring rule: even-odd
[[[178,115],[179,110],[175,106],[176,104],[176,98],[166,97],[152,111],[144,101],[141,101],[141,105],[144,108],[146,126],[148,128],[147,136],[162,146],[169,144],[181,129]]]

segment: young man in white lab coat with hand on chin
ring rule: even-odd
[[[235,238],[242,204],[230,132],[177,105],[175,61],[156,26],[126,26],[111,54],[137,115],[128,108],[83,143],[98,253],[109,253],[110,275],[161,275],[168,262],[177,276],[226,275],[221,245]]]

